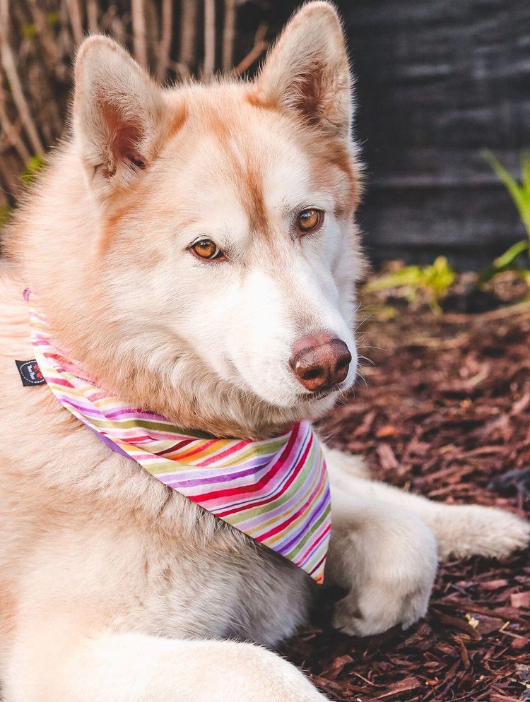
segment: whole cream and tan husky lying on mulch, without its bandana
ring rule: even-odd
[[[112,40],[83,43],[72,136],[1,269],[5,702],[324,699],[259,646],[305,621],[309,576],[112,453],[46,386],[23,387],[14,359],[33,358],[30,287],[62,347],[179,426],[259,438],[329,410],[355,376],[351,115],[326,2],[294,16],[252,83],[163,89]],[[437,557],[528,540],[509,513],[432,504],[326,457],[338,629],[409,626]]]

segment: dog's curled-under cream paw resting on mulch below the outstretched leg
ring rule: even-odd
[[[353,588],[335,605],[332,624],[343,633],[369,636],[396,624],[407,629],[427,612],[437,566],[435,537],[412,516],[391,533],[393,527],[395,522],[390,535],[381,535],[365,554]]]

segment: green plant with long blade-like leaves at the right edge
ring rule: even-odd
[[[502,273],[503,270],[513,268],[514,263],[526,252],[530,254],[530,153],[523,153],[521,157],[521,182],[518,183],[514,177],[505,169],[490,151],[484,152],[484,158],[492,167],[497,177],[502,184],[505,185],[507,191],[512,197],[514,205],[519,211],[519,216],[526,230],[526,239],[522,239],[517,244],[510,246],[504,254],[495,258],[493,264],[483,270],[478,277],[479,285],[491,280],[497,273]],[[529,271],[522,270],[522,275],[528,278]]]

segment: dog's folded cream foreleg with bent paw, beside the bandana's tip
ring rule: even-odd
[[[333,624],[357,636],[423,617],[436,572],[436,542],[413,513],[331,487],[333,529],[326,583],[340,585]]]

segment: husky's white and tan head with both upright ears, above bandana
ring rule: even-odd
[[[88,40],[74,118],[100,210],[94,275],[123,347],[289,417],[326,410],[355,377],[360,266],[331,6],[305,6],[254,83],[162,90]]]

